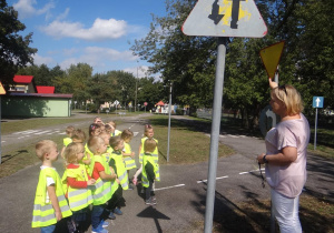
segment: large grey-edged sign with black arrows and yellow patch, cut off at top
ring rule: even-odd
[[[198,0],[184,22],[187,36],[262,38],[267,27],[254,0]]]

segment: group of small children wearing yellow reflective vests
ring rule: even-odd
[[[124,205],[122,190],[131,190],[131,183],[145,188],[145,203],[155,205],[154,182],[160,180],[158,165],[158,141],[154,130],[145,125],[145,136],[139,146],[140,168],[134,178],[129,172],[136,169],[135,152],[129,142],[134,133],[130,130],[116,130],[115,122],[104,124],[100,118],[89,125],[89,139],[80,129],[68,126],[63,139],[61,156],[65,172],[60,179],[52,163],[59,152],[57,144],[42,140],[36,144],[36,154],[42,161],[39,182],[36,190],[32,227],[41,232],[57,231],[59,222],[66,220],[69,232],[85,232],[89,227],[88,216],[95,233],[108,232],[105,227],[121,215]]]

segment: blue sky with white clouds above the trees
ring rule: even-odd
[[[145,77],[150,65],[132,54],[131,44],[149,31],[151,13],[166,14],[165,0],[7,0],[32,32],[35,64],[67,69],[79,62],[94,73],[124,70]],[[156,77],[158,78],[158,77]]]

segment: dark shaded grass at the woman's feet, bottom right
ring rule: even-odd
[[[203,189],[206,191],[206,184]],[[240,186],[243,195],[248,201],[234,203],[219,192],[215,192],[214,229],[213,232],[269,232],[271,231],[271,200],[261,200],[258,195],[246,186]],[[268,189],[268,188],[266,188]],[[194,190],[194,192],[196,192]],[[196,210],[205,215],[206,196],[197,193],[202,200],[193,202]],[[320,211],[324,210],[324,211]],[[304,232],[333,232],[333,203],[318,197],[317,193],[301,195],[299,219]],[[276,224],[275,232],[279,232]],[[203,224],[204,225],[204,224]]]

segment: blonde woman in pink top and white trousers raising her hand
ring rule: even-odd
[[[271,105],[281,122],[267,132],[266,153],[257,156],[266,164],[274,214],[283,233],[302,232],[298,216],[299,195],[306,182],[306,154],[310,125],[302,113],[303,102],[292,85],[279,85],[269,79]]]

